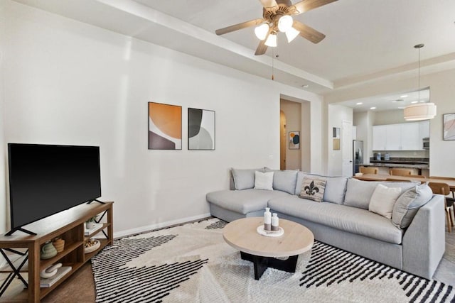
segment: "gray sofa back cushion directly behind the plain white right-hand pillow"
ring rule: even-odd
[[[358,207],[360,209],[368,209],[370,198],[378,184],[383,184],[387,187],[400,187],[402,192],[414,187],[416,182],[377,182],[377,181],[362,181],[355,178],[348,179],[346,187],[346,197],[344,204],[347,206]]]

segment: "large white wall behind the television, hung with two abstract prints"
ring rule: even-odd
[[[208,214],[205,194],[228,188],[230,167],[279,168],[281,94],[312,101],[311,115],[321,117],[315,94],[16,2],[1,4],[1,143],[100,145],[102,200],[115,202],[114,231]],[[149,101],[183,106],[183,150],[147,149]],[[216,112],[215,151],[187,150],[188,107]],[[317,129],[312,155],[321,155]],[[321,170],[319,157],[311,168]]]

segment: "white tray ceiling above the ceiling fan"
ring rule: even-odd
[[[321,43],[297,37],[288,44],[279,34],[278,47],[262,56],[254,55],[254,28],[215,35],[262,18],[259,0],[15,1],[267,79],[274,57],[275,81],[316,94],[397,74],[415,77],[418,43],[425,44],[422,75],[455,67],[454,0],[338,0],[294,16],[324,33]]]

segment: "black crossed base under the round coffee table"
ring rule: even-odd
[[[259,280],[267,268],[275,268],[285,272],[296,272],[299,255],[291,255],[286,260],[279,260],[273,257],[261,257],[260,255],[252,255],[241,251],[240,257],[243,260],[251,261],[253,263],[255,268],[255,280]]]

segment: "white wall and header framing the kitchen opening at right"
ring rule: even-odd
[[[430,120],[430,175],[454,176],[455,141],[442,140],[442,114],[455,113],[455,70],[422,75],[420,87],[430,88],[430,98],[437,105],[437,116]],[[324,95],[324,101],[336,103],[369,96],[409,92],[417,89],[417,77],[392,77],[363,85],[338,89]]]

